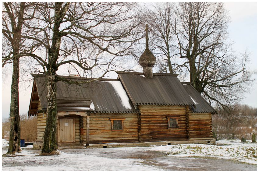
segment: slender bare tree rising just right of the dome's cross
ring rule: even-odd
[[[159,72],[174,73],[171,58],[174,51],[174,30],[176,7],[173,2],[164,2],[154,5],[154,11],[147,14],[148,23],[151,27],[150,47],[156,52],[157,58],[161,59]],[[163,58],[166,58],[165,60]]]

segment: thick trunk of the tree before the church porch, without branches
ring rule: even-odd
[[[46,128],[43,136],[43,147],[41,153],[51,153],[52,151],[57,150],[56,143],[56,131],[57,131],[57,105],[56,105],[56,82],[57,76],[56,71],[58,70],[57,60],[59,58],[59,48],[61,44],[61,36],[59,35],[59,26],[58,22],[63,18],[62,16],[62,3],[55,2],[55,22],[53,27],[53,38],[52,45],[49,49],[49,59],[48,59],[48,71],[46,74],[47,77],[47,90],[48,90],[48,107],[47,107],[47,121]],[[64,6],[64,11],[67,11],[69,3],[66,3]]]

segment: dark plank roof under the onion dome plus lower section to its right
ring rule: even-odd
[[[146,78],[139,72],[117,73],[135,105],[189,105],[194,113],[217,113],[190,83],[181,83],[178,74],[153,73],[153,78]]]

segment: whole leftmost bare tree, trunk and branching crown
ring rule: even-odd
[[[25,39],[22,35],[23,23],[30,20],[35,12],[35,2],[3,2],[2,11],[2,67],[12,63],[12,85],[10,104],[10,138],[9,154],[20,150],[20,116],[19,116],[19,58],[23,57],[21,48]],[[27,48],[23,47],[23,51]],[[34,48],[29,48],[30,50]]]

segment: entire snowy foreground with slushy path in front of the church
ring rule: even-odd
[[[241,143],[236,139],[219,140],[216,143],[217,145],[67,149],[60,150],[60,154],[54,156],[40,156],[40,150],[32,150],[32,146],[28,146],[15,155],[2,156],[2,171],[256,170],[255,165],[241,162],[257,163],[257,143]],[[6,154],[7,149],[8,142],[2,139],[1,154]],[[218,168],[218,165],[222,166]]]

